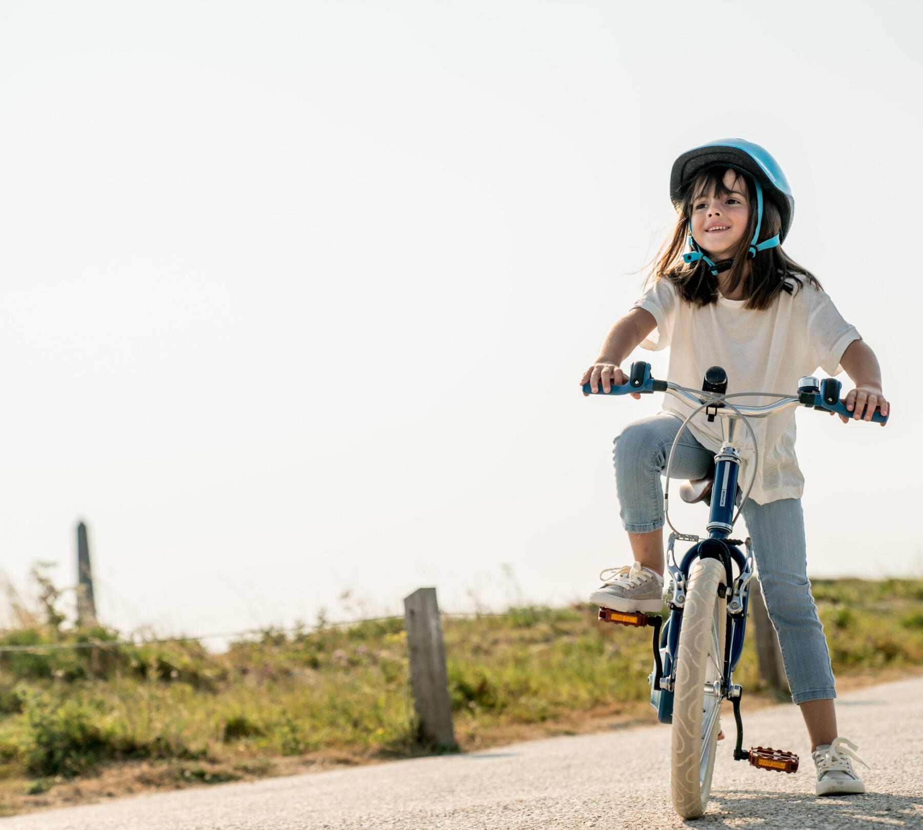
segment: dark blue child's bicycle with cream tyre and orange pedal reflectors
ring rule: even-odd
[[[683,421],[677,437],[702,410],[709,421],[719,419],[722,427],[724,440],[714,457],[715,484],[709,504],[707,538],[680,533],[670,521],[670,469],[676,442],[666,462],[664,509],[666,523],[672,532],[666,551],[670,576],[664,586],[664,601],[669,607],[665,624],[659,614],[626,613],[607,608],[599,610],[599,619],[605,622],[634,627],[653,626],[654,663],[648,676],[651,705],[657,710],[657,719],[661,723],[673,726],[670,789],[673,806],[682,818],[697,818],[708,805],[715,748],[721,729],[721,705],[725,700],[734,706],[737,726],[734,760],[749,761],[750,765],[776,772],[797,772],[798,757],[795,753],[761,746],[751,747],[749,751],[742,749],[740,698],[743,689],[733,682],[733,673],[743,650],[754,560],[752,541],[749,538],[731,539],[730,535],[749,498],[759,464],[759,445],[748,419],[765,418],[798,406],[852,417],[854,413],[848,411],[840,400],[841,387],[842,384],[834,378],[825,378],[818,383],[817,378],[809,376],[798,381],[796,395],[769,392],[728,395],[727,374],[720,366],[713,366],[705,373],[702,388],[698,390],[654,380],[651,364],[646,362],[632,363],[628,382],[613,385],[608,393],[602,387],[594,393],[589,384],[583,386],[584,392],[597,396],[665,392],[684,400],[692,405],[693,410]],[[775,402],[764,406],[743,406],[731,403],[729,398],[734,397],[769,397]],[[871,420],[885,423],[888,419],[875,412]],[[737,477],[741,467],[736,444],[741,421],[749,430],[755,457],[749,486],[735,513]],[[699,486],[691,488],[686,501],[707,498],[706,488]],[[679,563],[675,553],[677,541],[694,542]],[[746,548],[746,553],[740,550],[741,546]]]

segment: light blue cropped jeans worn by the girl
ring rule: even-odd
[[[613,457],[622,524],[629,533],[664,527],[664,488],[670,446],[682,421],[667,412],[630,423],[617,436]],[[671,478],[701,479],[714,468],[714,453],[689,430],[679,436]],[[779,635],[792,700],[836,697],[830,654],[810,593],[800,499],[744,505],[766,609]]]

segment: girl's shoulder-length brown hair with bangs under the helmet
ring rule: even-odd
[[[686,186],[673,236],[657,252],[648,277],[653,282],[658,279],[669,279],[676,286],[677,293],[685,301],[695,305],[709,305],[718,299],[718,278],[712,274],[708,264],[701,259],[689,265],[683,262],[682,254],[690,235],[689,218],[692,215],[692,202],[702,193],[714,192],[719,198],[728,196],[730,191],[725,187],[725,173],[728,169],[724,166],[709,167],[700,172]],[[737,290],[742,283],[744,299],[747,301],[744,303],[744,308],[766,309],[773,304],[780,291],[787,291],[791,294],[799,290],[805,282],[821,288],[820,281],[807,268],[799,266],[794,259],[785,255],[781,245],[758,251],[757,255],[749,260],[749,275],[744,276],[749,243],[753,239],[753,232],[756,231],[757,196],[756,187],[749,175],[738,171],[735,173],[737,173],[737,180],[742,181],[747,189],[749,219],[747,231],[734,252],[734,264],[730,268],[730,281],[727,285],[728,293]],[[779,214],[779,208],[764,190],[762,224],[760,238],[757,242],[771,239],[781,228],[782,217]]]

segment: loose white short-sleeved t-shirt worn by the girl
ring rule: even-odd
[[[781,392],[794,395],[798,379],[814,374],[820,366],[827,374],[842,371],[840,358],[846,347],[861,339],[855,326],[845,322],[830,297],[807,283],[794,294],[780,292],[763,311],[745,309],[743,300],[720,294],[710,305],[683,300],[669,279],[658,279],[634,304],[653,314],[657,327],[641,343],[642,349],[670,349],[666,380],[701,389],[705,371],[722,366],[727,372],[727,391]],[[738,397],[745,406],[773,403],[770,397]],[[672,395],[664,396],[664,408],[686,418],[693,407]],[[804,476],[795,456],[795,409],[768,418],[751,419],[760,443],[760,468],[750,498],[757,504],[797,499],[804,491]],[[689,422],[696,439],[717,452],[722,444],[721,424],[709,423],[704,412]],[[752,460],[752,440],[741,424],[737,449],[744,460],[739,478],[746,487]]]

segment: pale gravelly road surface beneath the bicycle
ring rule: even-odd
[[[866,795],[815,797],[794,705],[746,716],[744,745],[793,750],[800,772],[732,761],[727,707],[709,812],[685,824],[670,804],[669,727],[655,726],[37,812],[0,820],[0,830],[923,828],[923,679],[844,694],[838,711],[871,766]]]

